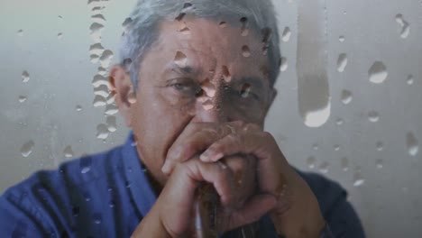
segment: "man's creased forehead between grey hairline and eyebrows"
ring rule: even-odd
[[[221,24],[213,20],[184,17],[161,23],[158,42],[151,48],[162,57],[174,58],[183,52],[197,66],[227,65],[242,67],[254,64],[262,67],[267,57],[262,52],[262,36],[255,31],[244,33],[244,23]]]

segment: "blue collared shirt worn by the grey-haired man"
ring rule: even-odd
[[[39,171],[0,197],[0,237],[130,237],[157,198],[144,171],[132,134],[111,151]],[[299,173],[326,218],[323,237],[364,237],[343,188]],[[268,216],[258,227],[258,237],[277,237]]]

